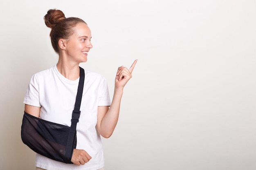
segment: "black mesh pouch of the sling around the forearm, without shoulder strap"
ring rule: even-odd
[[[70,127],[55,124],[34,117],[24,112],[21,139],[34,152],[50,159],[72,163],[72,153],[66,153]],[[72,141],[72,149],[76,148],[76,137]]]

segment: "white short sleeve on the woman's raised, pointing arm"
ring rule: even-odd
[[[103,77],[99,85],[99,103],[98,106],[110,106],[110,96],[108,91],[108,83]]]

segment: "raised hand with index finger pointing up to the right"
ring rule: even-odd
[[[130,78],[132,78],[132,70],[135,67],[137,60],[132,63],[132,66],[128,69],[124,66],[118,67],[117,75],[115,78],[115,87],[124,88]]]

